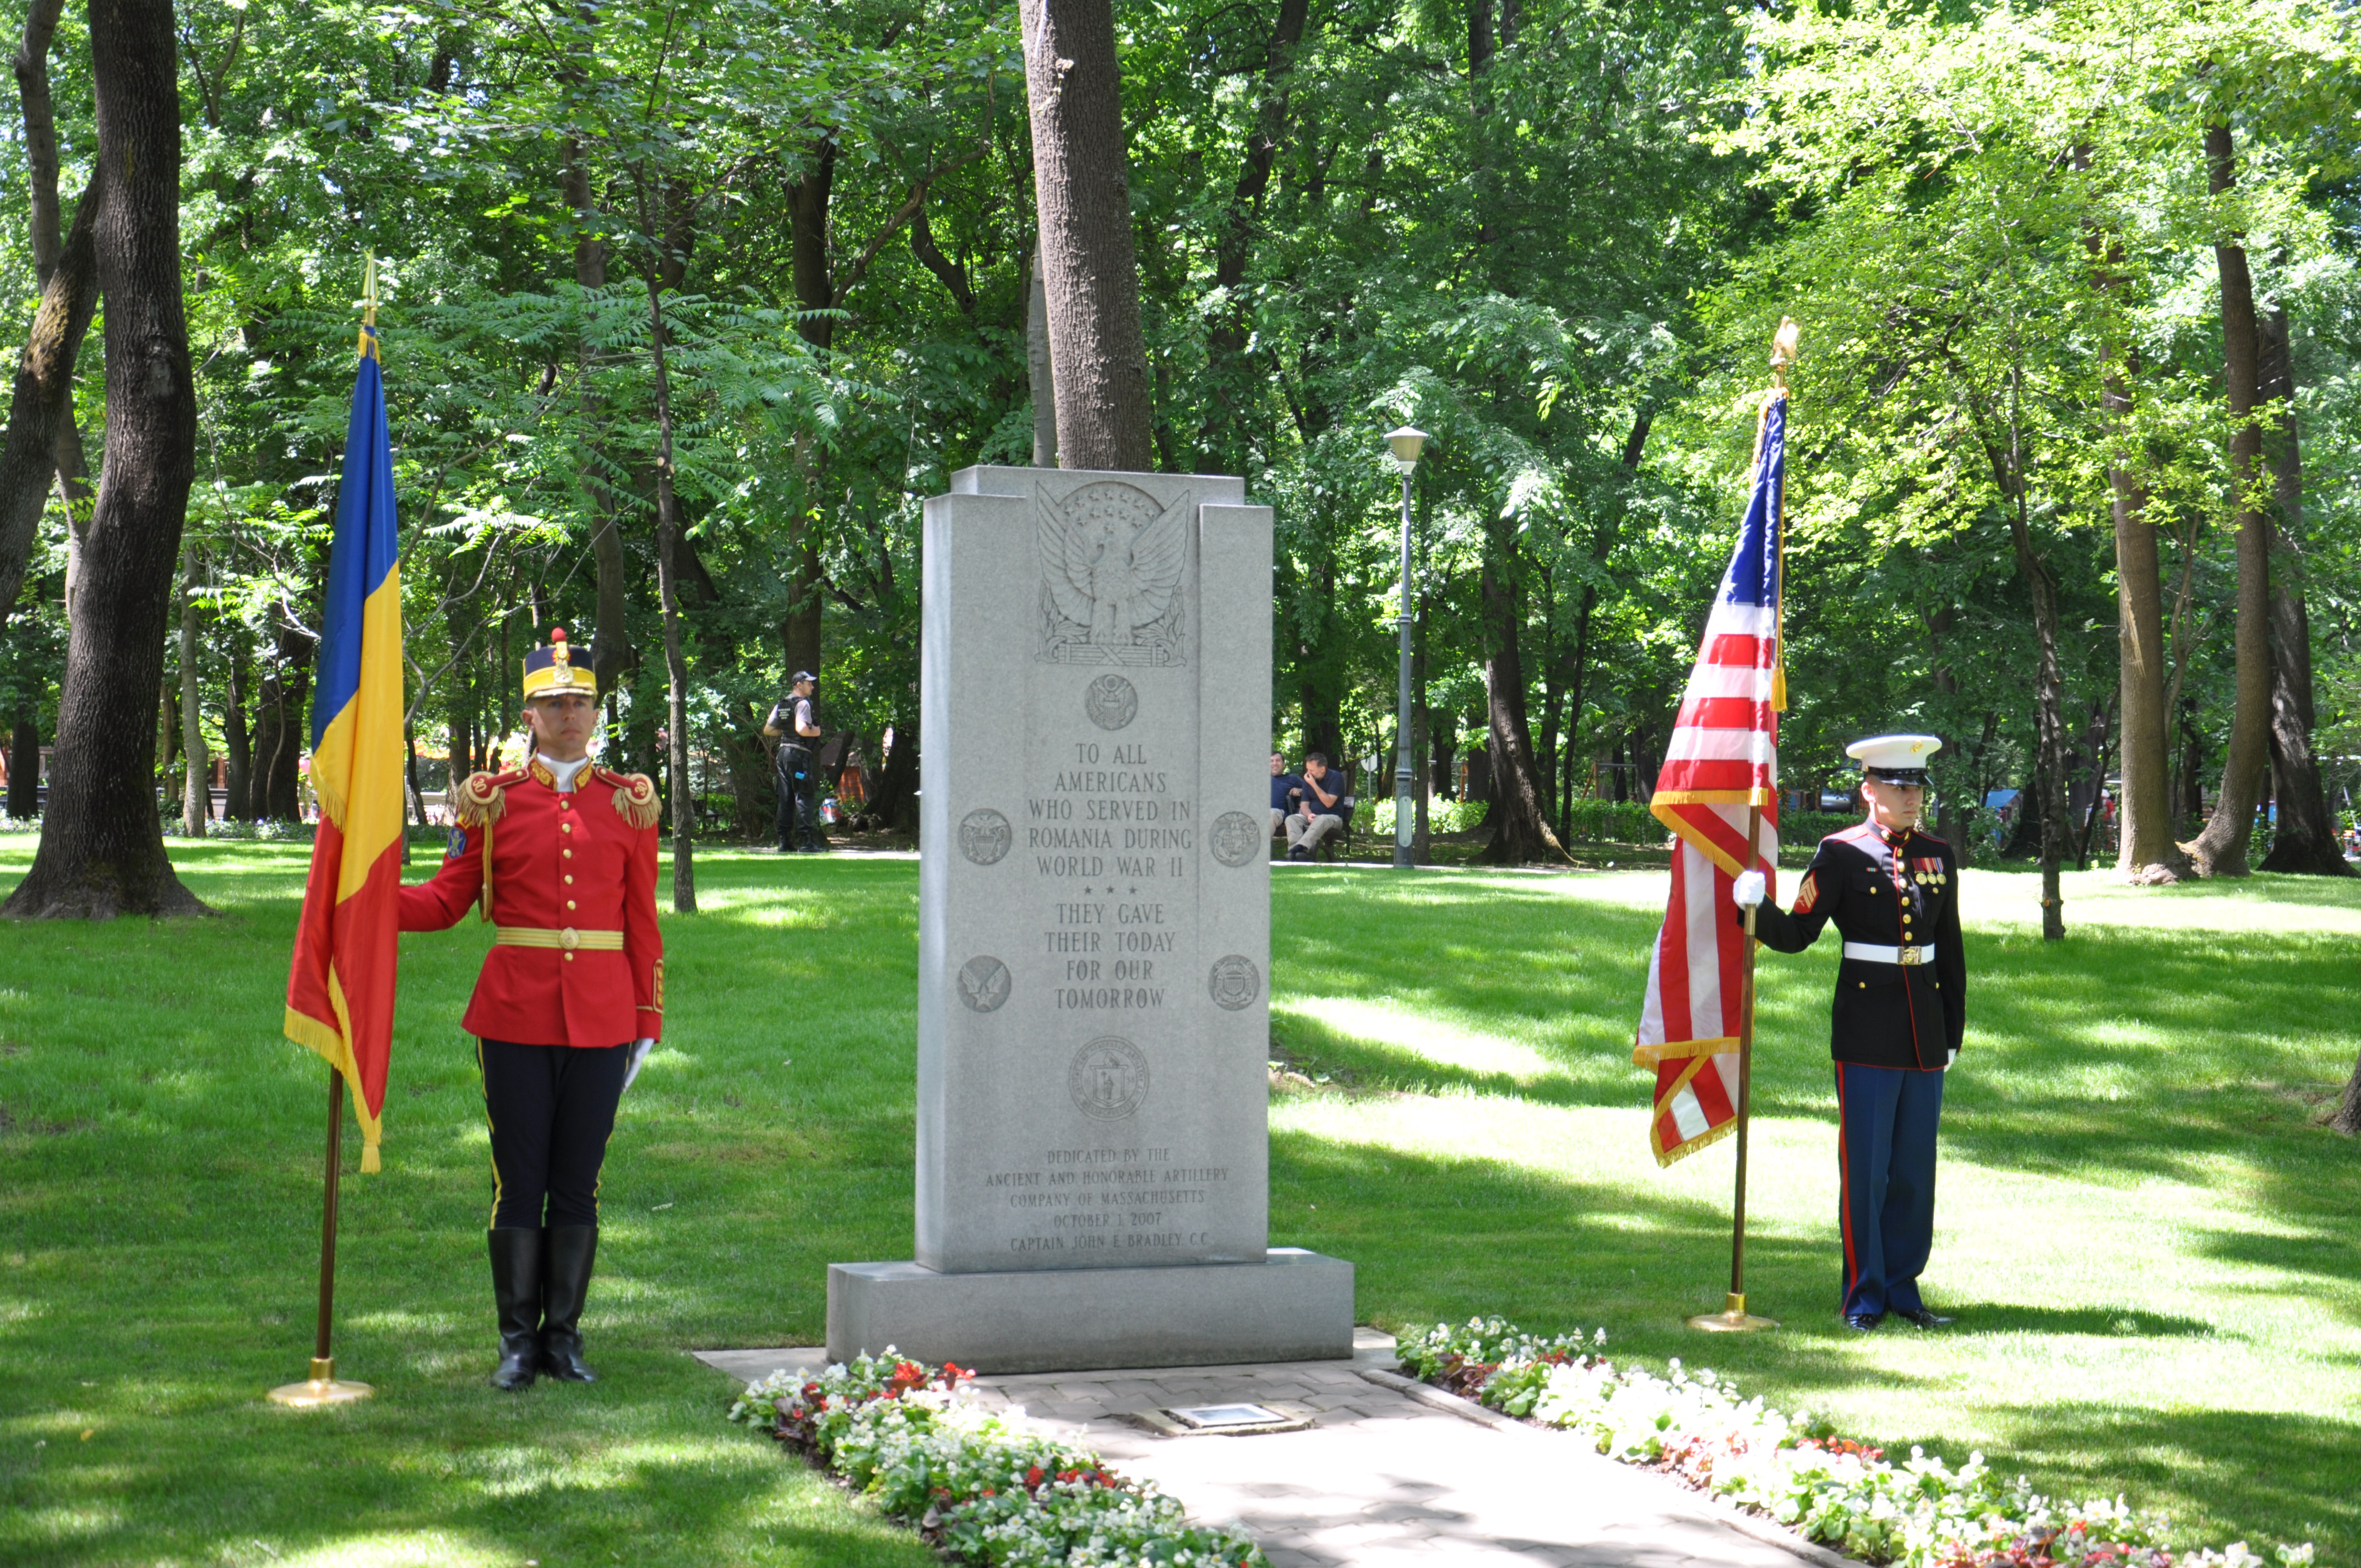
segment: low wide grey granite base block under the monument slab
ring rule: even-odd
[[[885,1346],[982,1372],[1348,1360],[1353,1266],[1301,1247],[1169,1268],[829,1263],[829,1360]]]

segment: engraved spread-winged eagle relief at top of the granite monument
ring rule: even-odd
[[[1121,479],[1084,484],[1065,501],[1034,486],[1041,545],[1041,659],[1046,664],[1188,664],[1180,576],[1197,498],[1169,508]]]

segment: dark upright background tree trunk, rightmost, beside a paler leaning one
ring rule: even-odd
[[[2276,538],[2271,548],[2271,798],[2278,822],[2264,871],[2352,876],[2337,822],[2321,789],[2311,751],[2311,614],[2304,607],[2304,456],[2295,430],[2295,359],[2288,352],[2288,312],[2257,324],[2257,387],[2276,411],[2262,456],[2271,468]]]

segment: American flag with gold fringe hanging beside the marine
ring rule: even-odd
[[[1761,808],[1752,864],[1778,893],[1780,505],[1787,394],[1764,401],[1754,491],[1721,593],[1705,621],[1650,810],[1676,836],[1672,902],[1648,963],[1631,1060],[1655,1067],[1648,1145],[1657,1164],[1738,1124],[1738,1013],[1747,933],[1731,881],[1747,869],[1747,817]]]

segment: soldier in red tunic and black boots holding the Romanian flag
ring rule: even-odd
[[[404,930],[467,907],[493,947],[460,1023],[477,1037],[491,1124],[496,1389],[588,1384],[581,1313],[597,1254],[597,1174],[614,1110],[663,1034],[656,786],[590,763],[597,682],[564,628],[524,659],[524,767],[458,789],[434,881],[401,890]]]

